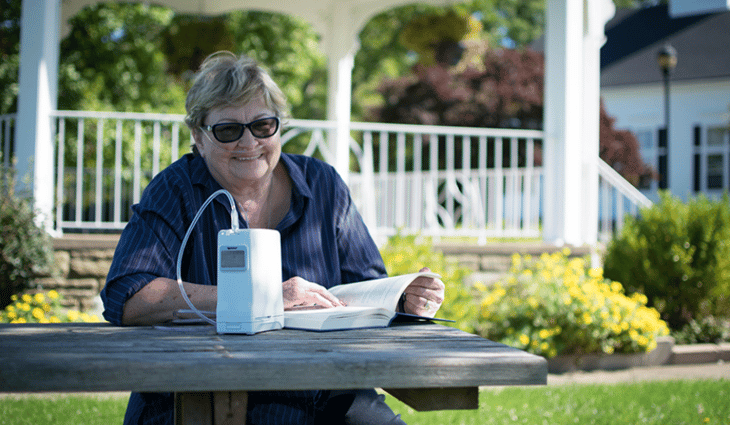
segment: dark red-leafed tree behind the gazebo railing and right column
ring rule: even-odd
[[[462,60],[462,63],[465,62]],[[426,67],[414,75],[385,81],[384,104],[373,121],[492,128],[542,128],[544,58],[525,49],[487,50],[474,65]],[[641,159],[633,133],[614,128],[601,104],[600,157],[634,185],[653,170]],[[540,164],[540,152],[535,161]]]

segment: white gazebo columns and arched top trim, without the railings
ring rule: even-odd
[[[720,1],[720,0],[714,0]],[[726,0],[723,0],[726,1]],[[53,137],[60,34],[69,17],[96,0],[24,0],[14,152],[18,175],[31,175],[36,207],[53,209]],[[450,0],[424,0],[447,4]],[[375,14],[408,0],[157,0],[182,13],[216,15],[234,9],[299,16],[322,37],[328,58],[328,120],[336,123],[335,167],[349,174],[351,74],[357,35]],[[690,0],[675,0],[683,10]],[[703,2],[707,3],[707,2]],[[546,0],[545,191],[543,239],[593,244],[598,216],[599,50],[611,0]]]

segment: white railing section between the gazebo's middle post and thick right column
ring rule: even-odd
[[[373,233],[539,237],[542,132],[352,123],[353,197]],[[368,201],[374,200],[374,202]]]

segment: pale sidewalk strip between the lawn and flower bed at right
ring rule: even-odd
[[[664,365],[634,367],[622,370],[577,371],[549,374],[548,385],[566,384],[616,384],[621,382],[666,381],[683,379],[730,380],[730,363],[702,363],[689,365]]]

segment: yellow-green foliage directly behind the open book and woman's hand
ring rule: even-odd
[[[441,275],[441,280],[446,285],[446,299],[437,316],[455,320],[455,326],[461,330],[473,330],[470,327],[475,313],[472,294],[464,286],[464,279],[471,273],[469,269],[460,267],[442,252],[435,251],[429,239],[416,235],[398,233],[388,239],[380,253],[389,275],[415,273],[423,267]]]

